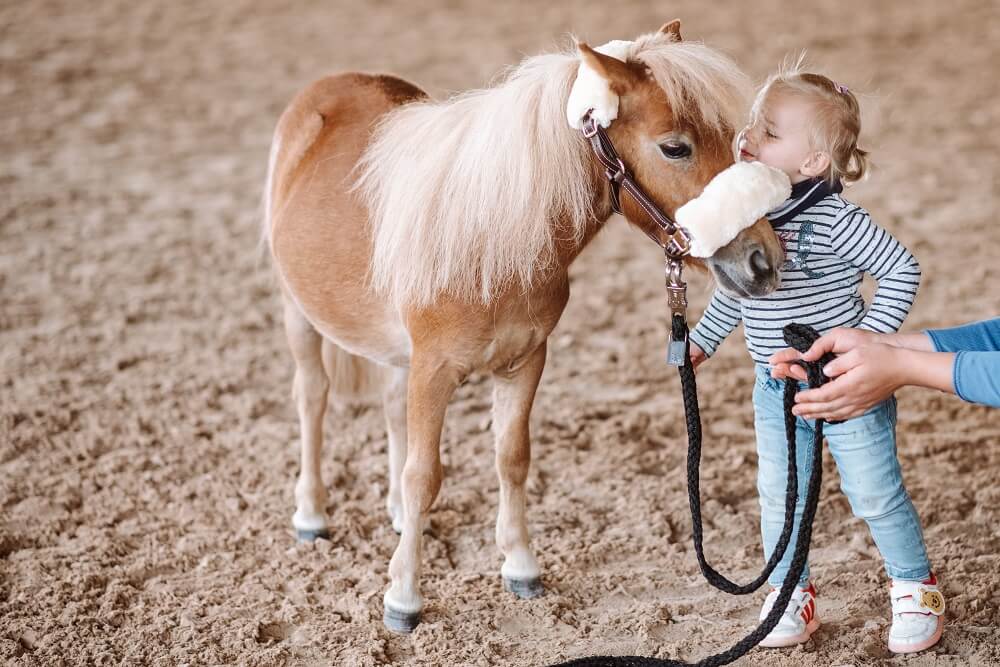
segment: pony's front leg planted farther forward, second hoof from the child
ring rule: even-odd
[[[406,392],[403,530],[389,562],[392,583],[382,599],[383,621],[394,632],[410,632],[420,622],[423,526],[441,489],[441,428],[460,381],[460,374],[444,362],[414,352]]]

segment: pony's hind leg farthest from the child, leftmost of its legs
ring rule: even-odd
[[[295,358],[292,396],[299,413],[301,467],[295,484],[292,525],[301,541],[328,537],[326,486],[321,474],[323,415],[330,383],[323,369],[320,334],[290,299],[285,300],[285,336]]]

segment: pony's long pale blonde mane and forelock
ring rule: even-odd
[[[748,84],[724,56],[657,34],[629,60],[650,70],[675,113],[739,126]],[[582,238],[594,221],[592,158],[565,117],[578,64],[575,49],[535,56],[493,88],[383,119],[357,181],[376,290],[397,306],[441,294],[488,303],[549,267],[557,234]]]

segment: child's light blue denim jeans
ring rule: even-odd
[[[754,383],[754,428],[757,432],[757,491],[760,494],[760,530],[765,559],[774,551],[785,518],[785,485],[788,475],[788,445],[785,442],[784,382],[771,377],[767,366],[757,366]],[[801,385],[805,388],[805,385]],[[809,452],[813,441],[812,420],[796,418],[796,459],[799,499],[795,528],[784,558],[768,581],[780,586],[788,574],[795,550],[799,521],[805,509],[809,475]],[[903,488],[903,475],[896,458],[896,399],[889,398],[865,414],[842,424],[824,424],[823,435],[840,473],[840,489],[851,503],[854,515],[864,519],[885,561],[885,571],[894,579],[922,581],[930,576],[920,519],[910,495]],[[809,579],[809,565],[800,583]]]

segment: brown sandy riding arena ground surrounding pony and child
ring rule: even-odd
[[[396,536],[378,411],[327,417],[331,539],[290,530],[298,428],[258,204],[273,124],[320,75],[392,71],[440,96],[569,31],[600,43],[679,16],[757,78],[808,47],[873,94],[879,169],[850,196],[923,264],[908,329],[1000,312],[1000,11],[810,4],[2,3],[0,659],[542,665],[695,659],[742,636],[761,595],[723,596],[697,572],[660,258],[624,224],[574,265],[533,417],[548,594],[501,589],[489,383],[473,377],[444,435],[424,623],[383,629]],[[696,316],[710,288],[693,289]],[[710,556],[745,578],[761,556],[739,335],[699,382]],[[828,460],[812,558],[824,627],[739,664],[1000,664],[1000,419],[906,390],[899,438],[948,596],[944,640],[887,653],[885,575]]]

